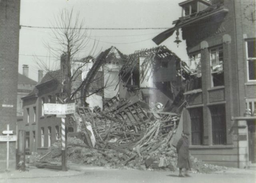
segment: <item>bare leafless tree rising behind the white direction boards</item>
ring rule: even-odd
[[[52,64],[46,64],[45,61],[38,59],[36,57],[36,62],[40,68],[40,70],[44,70],[48,75],[54,79],[54,75],[52,71],[56,71],[60,69],[60,65],[57,61],[60,59],[65,59],[64,68],[61,70],[65,70],[64,78],[61,80],[56,80],[58,84],[63,88],[62,94],[65,95],[65,98],[68,100],[71,99],[83,99],[83,104],[86,105],[86,98],[95,94],[97,92],[101,92],[103,89],[106,89],[111,82],[107,82],[105,85],[97,82],[97,80],[102,80],[104,75],[97,75],[97,71],[99,70],[102,61],[97,60],[93,65],[92,70],[88,72],[88,76],[81,80],[81,73],[83,72],[83,67],[86,66],[92,59],[79,59],[83,53],[87,52],[87,55],[95,55],[95,50],[98,47],[98,41],[93,41],[90,38],[90,34],[88,30],[85,29],[84,19],[80,20],[79,13],[74,13],[73,10],[62,10],[58,14],[58,16],[54,17],[54,21],[51,22],[52,27],[52,36],[51,41],[48,43],[44,43],[45,47],[50,50],[52,57],[56,57],[56,62],[52,62]],[[87,57],[88,58],[88,57]],[[83,61],[79,66],[77,65],[77,61]],[[80,80],[80,83],[79,83]],[[72,89],[72,82],[76,81],[76,88]],[[79,83],[77,85],[77,82]],[[90,84],[97,83],[96,89],[89,91]],[[77,92],[80,92],[77,98]]]

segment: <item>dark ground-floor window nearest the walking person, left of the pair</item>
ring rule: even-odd
[[[189,109],[191,119],[191,143],[192,145],[202,145],[204,136],[203,108]]]

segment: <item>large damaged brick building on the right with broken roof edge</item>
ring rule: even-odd
[[[244,168],[255,163],[255,1],[189,0],[182,17],[157,35],[160,44],[179,29],[191,70],[184,93],[184,131],[191,154],[217,165]]]

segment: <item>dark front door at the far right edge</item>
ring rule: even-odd
[[[248,121],[249,161],[256,163],[256,120]]]

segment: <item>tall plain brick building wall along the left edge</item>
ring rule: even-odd
[[[0,1],[0,131],[16,131],[19,66],[20,1]],[[16,135],[16,133],[15,133]],[[9,167],[15,168],[15,142],[10,142]],[[0,169],[6,168],[6,142],[0,142]]]

